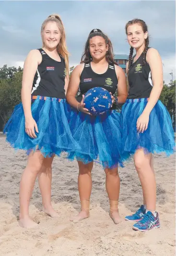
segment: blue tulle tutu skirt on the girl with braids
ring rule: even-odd
[[[169,156],[175,152],[174,130],[169,112],[160,100],[150,113],[147,130],[143,133],[137,132],[137,120],[147,102],[148,98],[127,99],[123,105],[123,148],[131,154],[143,148],[145,153],[165,152]]]

